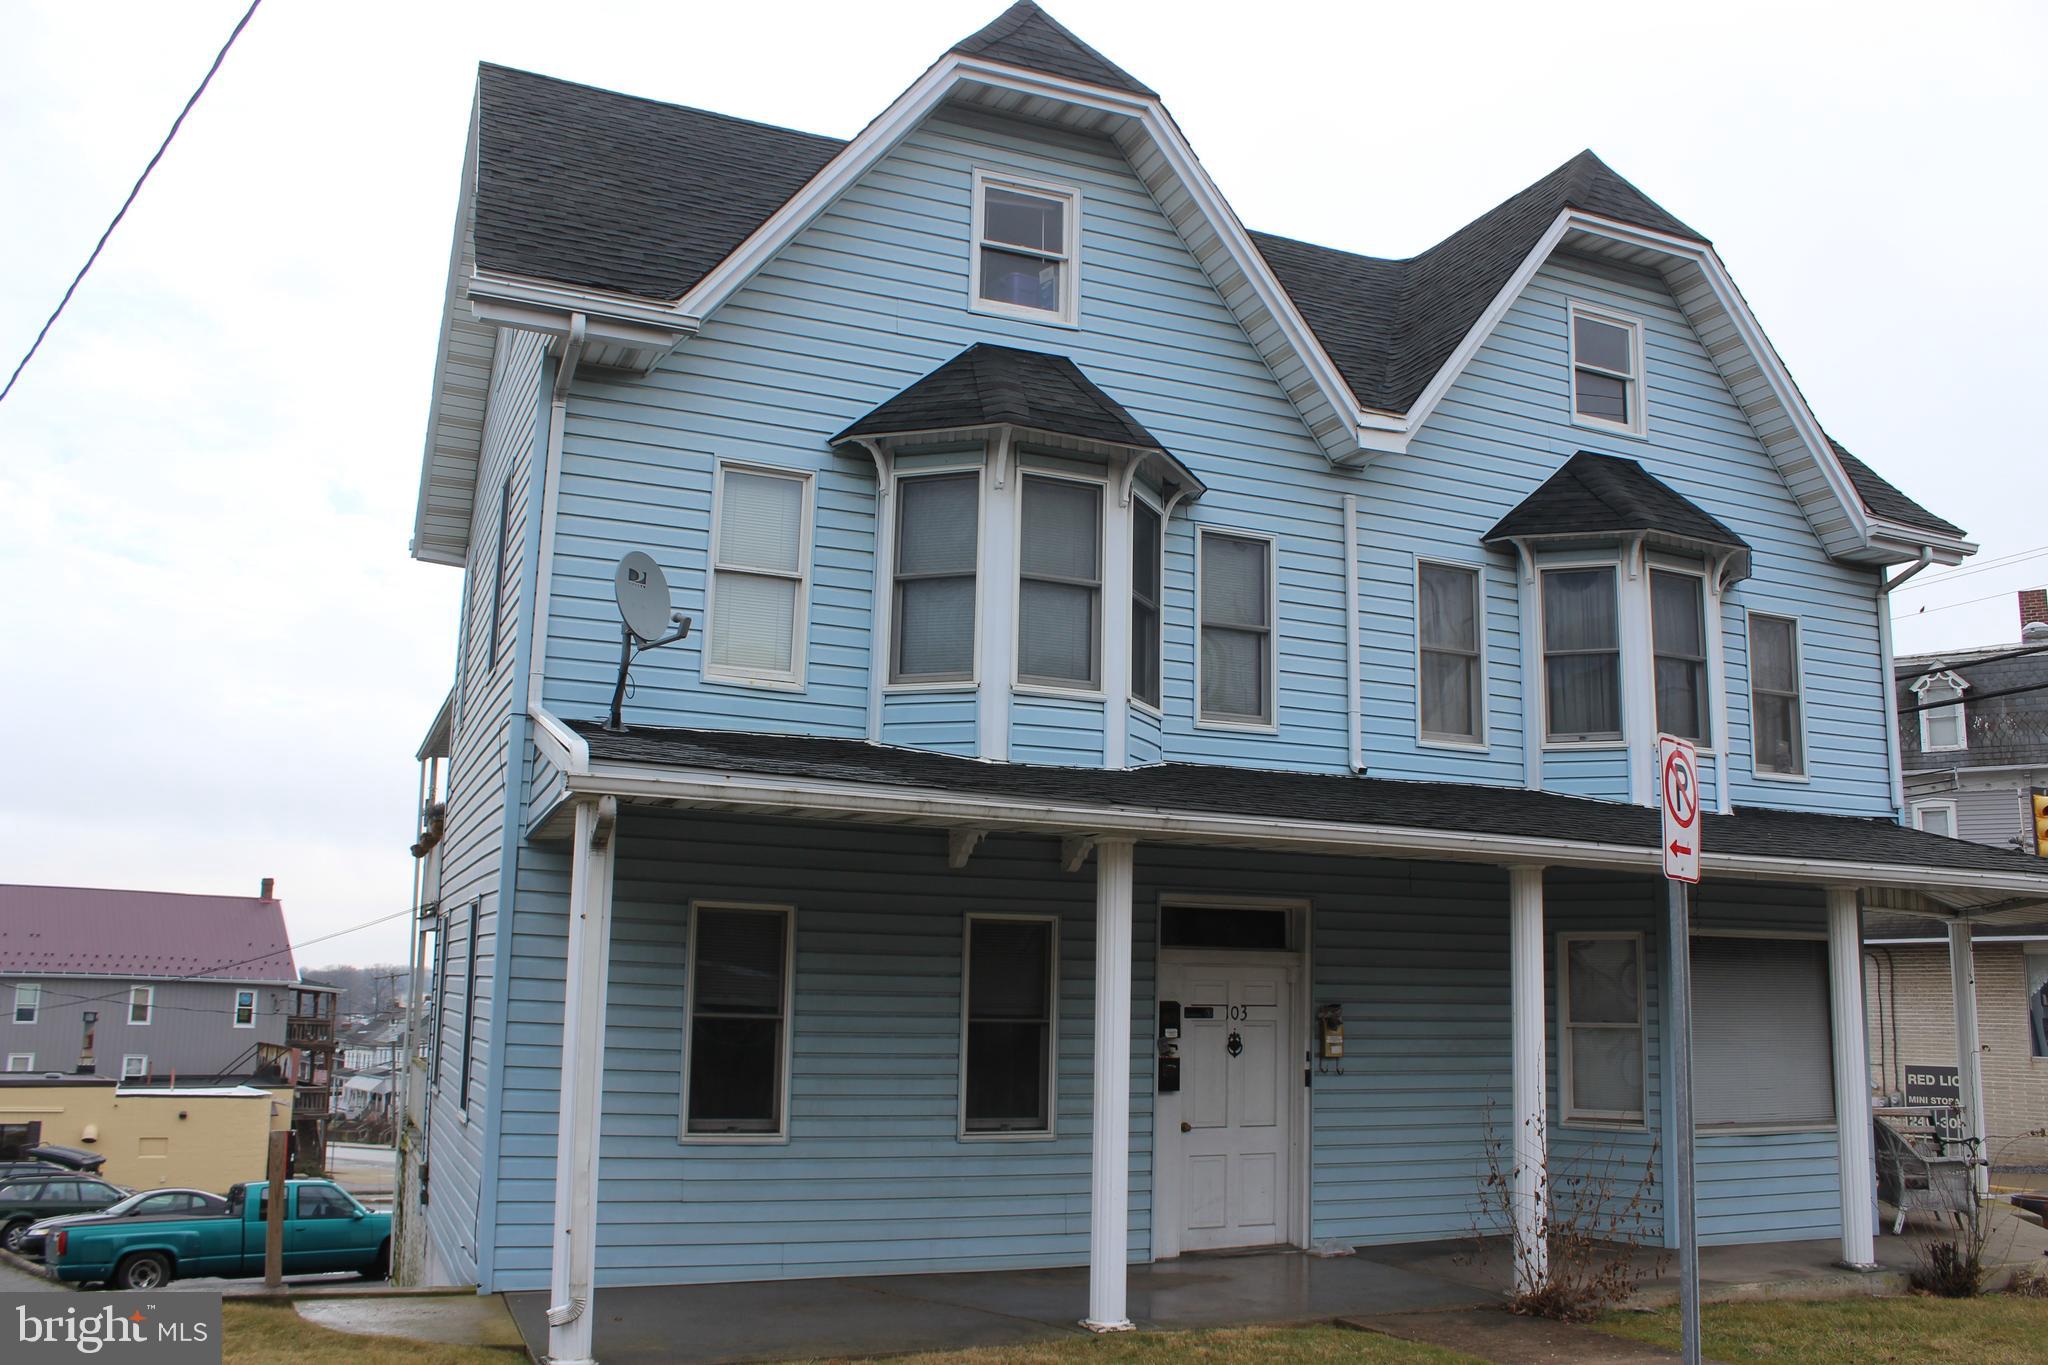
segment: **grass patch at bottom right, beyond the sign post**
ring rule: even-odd
[[[1679,1347],[1675,1308],[1616,1312],[1593,1326],[1673,1351]],[[1704,1353],[1720,1361],[2032,1365],[2048,1359],[2048,1300],[1987,1295],[1708,1304],[1702,1332]]]

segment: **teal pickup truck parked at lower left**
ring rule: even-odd
[[[391,1271],[391,1216],[371,1214],[334,1181],[285,1183],[285,1273]],[[63,1224],[43,1263],[57,1279],[158,1289],[172,1279],[262,1275],[266,1181],[227,1191],[225,1214]]]

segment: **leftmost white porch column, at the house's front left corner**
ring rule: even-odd
[[[618,806],[575,806],[569,964],[561,1001],[561,1107],[555,1138],[555,1263],[547,1359],[588,1365],[598,1257],[598,1126],[604,1105],[604,993],[612,962],[612,825]]]

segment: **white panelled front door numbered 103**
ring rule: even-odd
[[[1167,962],[1159,999],[1180,1001],[1176,1160],[1180,1248],[1292,1242],[1290,968]],[[1178,1132],[1176,1132],[1178,1130]]]

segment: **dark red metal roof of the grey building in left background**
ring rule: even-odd
[[[281,900],[0,886],[4,976],[297,980]]]

